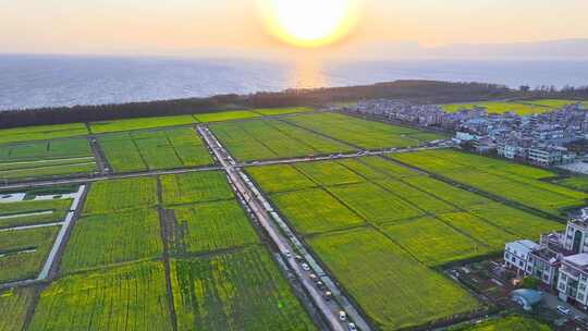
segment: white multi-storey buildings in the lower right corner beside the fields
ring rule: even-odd
[[[530,275],[565,302],[588,310],[588,210],[567,222],[564,232],[507,243],[505,265],[519,275]]]

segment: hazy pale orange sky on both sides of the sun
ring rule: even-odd
[[[296,0],[292,0],[296,1]],[[320,1],[320,0],[317,0]],[[258,0],[0,0],[0,52],[280,51]],[[348,45],[588,37],[588,0],[363,0]],[[201,51],[203,54],[205,53]]]

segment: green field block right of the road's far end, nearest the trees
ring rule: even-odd
[[[277,120],[217,123],[210,128],[242,161],[328,155],[352,147]]]

